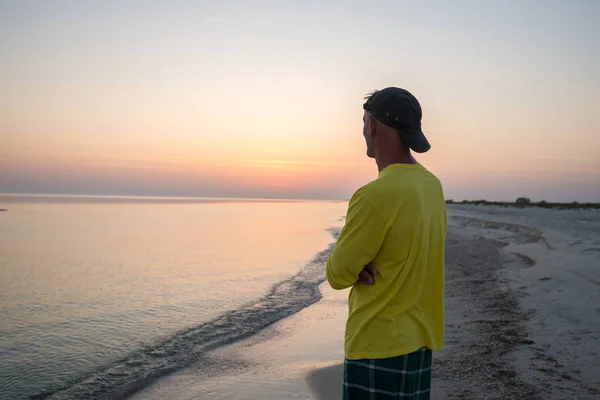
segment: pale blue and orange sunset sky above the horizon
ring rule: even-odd
[[[408,89],[446,198],[600,201],[600,2],[0,0],[0,192],[347,199]]]

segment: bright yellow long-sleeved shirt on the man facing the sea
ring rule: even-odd
[[[327,261],[331,287],[352,287],[347,359],[443,348],[446,229],[442,186],[420,164],[392,164],[352,196]],[[369,263],[373,285],[358,281]]]

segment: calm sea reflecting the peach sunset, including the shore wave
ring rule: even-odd
[[[311,304],[346,206],[0,197],[0,397],[125,395]]]

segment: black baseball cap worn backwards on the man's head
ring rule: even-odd
[[[431,148],[421,130],[421,105],[408,90],[397,87],[377,90],[363,104],[363,109],[379,122],[400,132],[411,150],[425,153]]]

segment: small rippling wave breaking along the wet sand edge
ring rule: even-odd
[[[339,234],[336,229],[329,231],[334,238]],[[123,399],[164,375],[201,361],[208,350],[256,334],[321,299],[319,285],[326,279],[323,266],[333,246],[331,243],[319,252],[296,275],[273,285],[262,298],[30,399]]]

